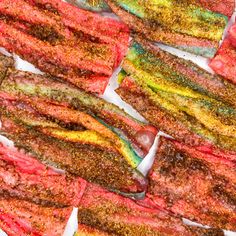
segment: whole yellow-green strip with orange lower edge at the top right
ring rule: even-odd
[[[212,58],[223,37],[228,18],[195,1],[107,0],[137,34],[184,51]]]

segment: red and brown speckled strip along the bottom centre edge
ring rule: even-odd
[[[146,208],[92,184],[81,199],[78,221],[109,235],[223,235],[221,230],[191,228],[161,208]]]

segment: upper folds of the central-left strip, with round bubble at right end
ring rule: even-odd
[[[2,58],[5,59],[9,60]],[[29,103],[38,113],[65,125],[96,132],[134,167],[148,153],[157,134],[154,127],[135,120],[114,104],[45,76],[11,70],[3,79],[0,91],[5,92],[3,97],[8,94],[13,100]]]

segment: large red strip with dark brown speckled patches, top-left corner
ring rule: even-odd
[[[90,92],[104,92],[128,47],[124,24],[60,0],[5,0],[0,14],[2,47]]]

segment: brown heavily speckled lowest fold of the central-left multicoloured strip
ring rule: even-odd
[[[34,154],[39,160],[98,183],[113,191],[140,193],[145,189],[144,177],[117,153],[74,145],[42,134],[20,119],[22,113],[1,109],[1,134],[16,146]],[[88,148],[89,147],[89,148]]]

